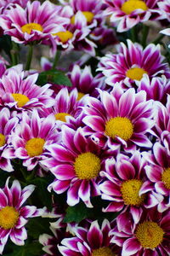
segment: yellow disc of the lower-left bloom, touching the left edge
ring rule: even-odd
[[[4,230],[14,228],[19,218],[19,212],[14,207],[4,207],[0,210],[0,227]]]

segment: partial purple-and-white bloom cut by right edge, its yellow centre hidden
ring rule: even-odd
[[[167,95],[167,104],[164,106],[161,102],[156,102],[156,113],[154,119],[156,125],[153,130],[156,132],[158,139],[165,144],[168,154],[170,154],[170,95]]]

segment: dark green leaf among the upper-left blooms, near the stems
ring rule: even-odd
[[[39,74],[37,84],[43,85],[47,83],[72,86],[71,80],[64,72],[59,70],[48,70]]]

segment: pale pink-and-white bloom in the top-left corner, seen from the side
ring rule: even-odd
[[[30,1],[23,9],[15,4],[6,10],[1,16],[1,26],[4,34],[11,36],[17,44],[43,44],[43,41],[49,40],[54,44],[53,33],[64,31],[63,25],[68,20],[59,16],[61,7],[56,6],[49,1],[41,3],[39,1]],[[54,46],[54,45],[53,45]]]

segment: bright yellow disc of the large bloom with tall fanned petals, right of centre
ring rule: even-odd
[[[133,135],[133,124],[127,118],[111,118],[105,124],[105,134],[112,138],[118,136],[127,141]]]

